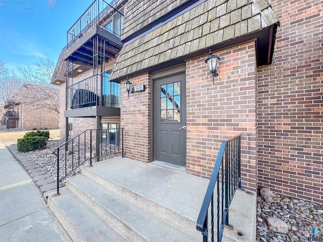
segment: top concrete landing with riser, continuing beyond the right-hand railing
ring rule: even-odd
[[[202,240],[201,233],[196,230],[196,220],[209,179],[121,157],[81,169],[83,175],[104,188],[180,229],[192,239]],[[229,223],[233,229],[225,228],[223,241],[255,241],[254,192],[236,191],[229,209]]]

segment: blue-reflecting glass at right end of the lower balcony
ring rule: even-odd
[[[120,83],[110,82],[110,73],[107,71],[102,75],[102,106],[120,107]]]

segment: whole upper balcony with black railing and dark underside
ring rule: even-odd
[[[118,11],[104,0],[95,0],[67,31],[64,59],[92,66],[95,54],[115,58],[123,45],[120,41],[123,19],[122,9]]]

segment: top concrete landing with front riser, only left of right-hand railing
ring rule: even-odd
[[[208,179],[120,157],[81,169],[83,175],[195,241],[201,239],[196,220]]]

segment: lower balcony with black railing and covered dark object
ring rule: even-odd
[[[66,88],[65,117],[120,116],[120,84],[93,75]]]

